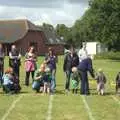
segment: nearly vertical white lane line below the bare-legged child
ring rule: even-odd
[[[49,104],[48,104],[48,113],[47,113],[46,120],[51,120],[52,119],[53,98],[54,98],[54,95],[50,95]]]

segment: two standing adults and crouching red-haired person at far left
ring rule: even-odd
[[[12,45],[11,51],[9,52],[9,68],[6,70],[4,70],[4,58],[3,46],[0,44],[0,83],[5,93],[18,93],[21,90],[19,84],[21,55],[15,45]]]

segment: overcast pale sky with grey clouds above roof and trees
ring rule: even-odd
[[[88,0],[0,0],[0,19],[72,26],[87,8]]]

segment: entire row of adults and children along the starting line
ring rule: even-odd
[[[21,65],[21,54],[15,45],[11,46],[9,52],[9,68],[4,70],[4,50],[0,44],[0,83],[5,93],[19,93],[21,90],[19,80],[19,68]],[[32,88],[36,92],[55,93],[56,90],[56,64],[58,58],[52,48],[48,49],[48,54],[40,65],[37,67],[37,54],[34,46],[31,46],[25,54],[25,85],[29,86],[29,78],[32,76]],[[66,74],[65,92],[70,91],[70,82],[72,84],[73,94],[77,94],[80,87],[80,93],[83,95],[90,94],[88,72],[97,81],[98,94],[104,95],[106,76],[102,69],[95,74],[92,66],[92,60],[88,56],[86,46],[75,52],[73,47],[65,52],[63,71]],[[80,84],[80,86],[79,86]],[[120,73],[116,77],[116,92],[120,88]]]

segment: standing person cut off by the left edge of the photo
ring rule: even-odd
[[[0,44],[0,82],[1,84],[3,83],[2,81],[2,76],[4,73],[4,51],[3,51],[3,46]]]

